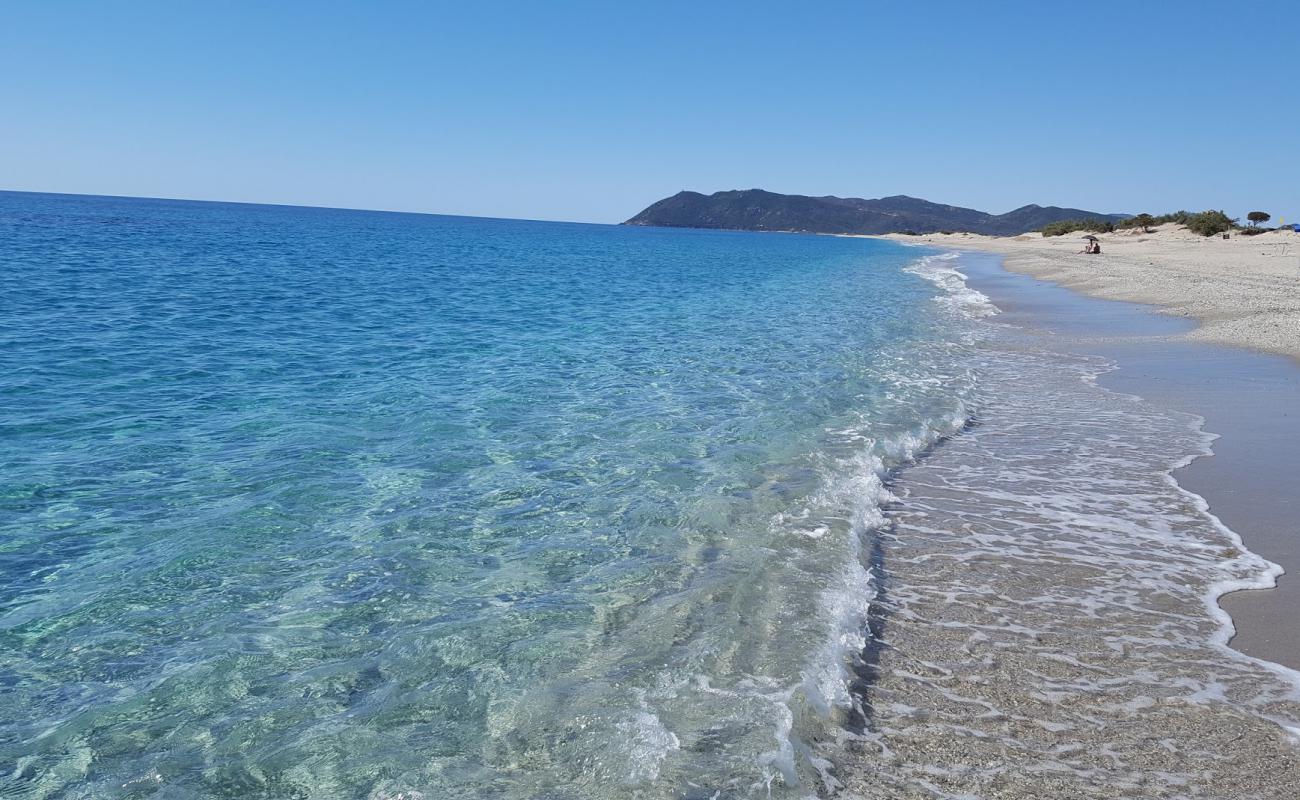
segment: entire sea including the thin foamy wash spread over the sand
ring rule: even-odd
[[[0,796],[1294,766],[1295,675],[1214,604],[1278,568],[1171,477],[1213,436],[970,258],[0,193]]]

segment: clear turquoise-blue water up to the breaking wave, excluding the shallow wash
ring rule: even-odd
[[[3,795],[814,793],[920,255],[0,194]]]

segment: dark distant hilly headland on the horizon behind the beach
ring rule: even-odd
[[[662,228],[723,228],[728,230],[792,230],[802,233],[935,233],[959,230],[1017,235],[1049,222],[1078,219],[1118,221],[1127,215],[1097,213],[1057,206],[1024,206],[1006,213],[985,213],[959,206],[896,195],[878,200],[810,198],[762,189],[679,191],[659,200],[624,225]]]

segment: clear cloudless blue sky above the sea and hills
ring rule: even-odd
[[[1300,221],[1292,3],[12,3],[0,189],[612,222],[680,189]]]

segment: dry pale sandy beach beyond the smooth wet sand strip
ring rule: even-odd
[[[1100,234],[1100,255],[1079,252],[1082,235],[884,238],[998,252],[1013,272],[1092,297],[1149,303],[1196,320],[1199,325],[1186,333],[1193,341],[1300,360],[1300,233],[1234,233],[1223,239],[1169,224],[1152,233]]]

